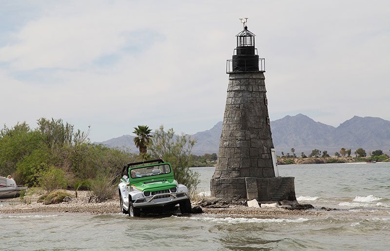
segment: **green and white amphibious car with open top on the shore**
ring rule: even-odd
[[[145,209],[170,209],[177,204],[181,213],[191,212],[188,189],[177,183],[170,163],[162,159],[130,163],[122,175],[118,192],[123,213],[134,217]]]

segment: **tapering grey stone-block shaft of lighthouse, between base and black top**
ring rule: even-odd
[[[231,73],[213,178],[274,177],[262,72]]]

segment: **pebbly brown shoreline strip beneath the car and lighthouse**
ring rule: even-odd
[[[74,194],[74,191],[68,191]],[[115,214],[121,213],[119,209],[119,201],[117,198],[109,199],[101,203],[88,202],[90,193],[87,191],[78,191],[78,197],[73,197],[68,202],[59,204],[43,205],[38,203],[40,193],[25,195],[23,198],[1,199],[0,214],[15,214],[15,213],[88,213],[88,214]],[[193,202],[193,207],[197,208],[197,212],[206,214],[239,214],[239,215],[267,215],[267,216],[308,216],[320,215],[324,212],[317,210],[288,210],[284,208],[249,208],[242,205],[243,203],[235,203],[235,205],[216,204],[207,205],[205,199]],[[201,209],[201,211],[199,210]],[[174,213],[175,214],[175,213]]]

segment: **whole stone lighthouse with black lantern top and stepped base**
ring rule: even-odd
[[[233,59],[228,59],[229,85],[219,141],[218,163],[211,179],[211,196],[295,200],[294,178],[278,177],[265,87],[265,58],[259,58],[255,35],[236,35]]]

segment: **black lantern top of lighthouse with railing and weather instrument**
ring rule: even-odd
[[[254,48],[254,35],[248,30],[244,23],[244,30],[235,35],[237,47],[234,49],[233,59],[228,59],[226,73],[235,72],[265,72],[265,59],[257,55],[257,49]],[[260,62],[260,70],[259,70]]]

